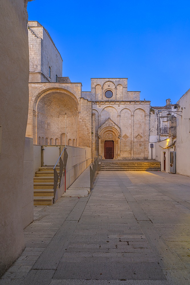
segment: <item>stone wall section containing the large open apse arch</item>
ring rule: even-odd
[[[30,83],[26,136],[33,137],[34,144],[39,143],[39,137],[41,142],[47,138],[48,144],[50,139],[52,144],[55,139],[60,143],[61,134],[65,133],[66,113],[66,143],[71,139],[76,144],[80,96],[81,84]]]

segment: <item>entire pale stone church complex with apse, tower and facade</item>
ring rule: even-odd
[[[62,77],[62,58],[47,30],[28,22],[30,77],[26,136],[34,144],[88,146],[92,159],[147,159],[150,101],[127,78],[91,78],[91,91]],[[65,115],[66,113],[66,115]],[[65,127],[66,122],[66,127]]]

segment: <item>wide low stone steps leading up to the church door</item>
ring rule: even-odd
[[[159,171],[160,162],[156,160],[102,160],[101,171]]]

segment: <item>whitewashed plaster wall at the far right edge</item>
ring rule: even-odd
[[[190,176],[190,89],[179,99],[177,103],[180,106],[178,111],[183,111],[183,113],[179,113],[182,117],[177,115],[176,119],[176,173]]]

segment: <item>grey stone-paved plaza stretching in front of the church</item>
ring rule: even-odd
[[[103,171],[88,197],[34,211],[1,285],[190,284],[190,177]]]

